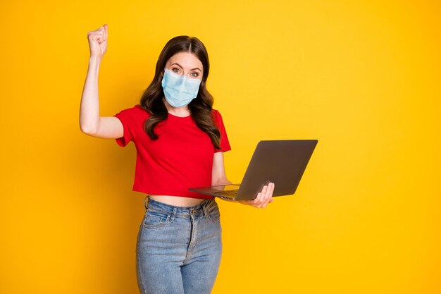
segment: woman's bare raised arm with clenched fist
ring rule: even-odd
[[[107,25],[87,33],[89,68],[80,103],[80,129],[87,135],[104,138],[123,137],[123,124],[114,116],[99,116],[98,73],[107,49]]]

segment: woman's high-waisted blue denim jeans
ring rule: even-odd
[[[147,197],[146,197],[147,199]],[[139,225],[136,269],[142,294],[210,293],[222,254],[218,204],[176,207],[149,198]]]

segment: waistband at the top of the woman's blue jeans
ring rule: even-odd
[[[147,201],[148,200],[148,201]],[[206,199],[203,202],[194,205],[192,207],[180,207],[180,206],[174,206],[170,204],[166,204],[163,202],[159,202],[156,200],[153,200],[147,195],[144,199],[144,207],[149,210],[153,210],[156,212],[163,212],[166,214],[170,214],[170,216],[189,216],[197,215],[197,214],[204,214],[206,215],[208,213],[208,209],[212,207],[213,205],[216,205],[215,198]]]

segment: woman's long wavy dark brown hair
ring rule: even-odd
[[[190,115],[194,119],[196,125],[209,135],[213,146],[216,149],[221,149],[221,133],[216,127],[213,120],[211,110],[213,109],[213,96],[206,90],[206,79],[209,76],[210,63],[209,55],[205,49],[204,44],[196,37],[178,36],[170,39],[166,46],[159,54],[156,62],[156,71],[151,84],[144,91],[141,97],[140,104],[143,109],[149,112],[151,116],[144,122],[144,130],[149,135],[151,140],[157,140],[158,135],[154,128],[161,121],[165,121],[168,117],[166,105],[163,102],[164,92],[161,85],[164,68],[170,57],[179,52],[190,52],[197,56],[204,66],[204,73],[202,74],[202,81],[199,85],[197,97],[188,104]]]

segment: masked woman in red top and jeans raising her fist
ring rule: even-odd
[[[209,59],[199,39],[179,36],[166,44],[140,104],[99,116],[98,71],[107,48],[107,25],[88,32],[89,68],[80,106],[80,128],[94,137],[133,141],[133,190],[147,194],[137,238],[141,293],[210,293],[221,260],[221,224],[213,197],[188,188],[223,185],[228,137],[206,90]],[[273,202],[273,183],[253,207]],[[146,203],[146,200],[148,202]]]

